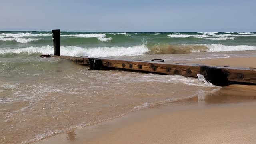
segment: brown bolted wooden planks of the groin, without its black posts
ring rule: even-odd
[[[41,57],[56,57],[72,60],[77,64],[89,64],[90,57],[79,56],[54,56],[54,55],[41,55]],[[179,64],[179,63],[166,63],[166,62],[152,62],[140,60],[124,60],[124,59],[107,59],[100,58],[104,68],[119,68],[124,70],[136,70],[144,72],[153,72],[160,74],[177,74],[186,77],[197,77],[201,73],[201,65],[198,64]],[[202,65],[206,66],[206,65]],[[256,69],[252,68],[232,68],[232,67],[213,67],[221,69],[227,75],[228,81],[232,82],[246,82],[256,84]]]

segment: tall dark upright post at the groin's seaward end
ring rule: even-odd
[[[60,56],[60,30],[52,30],[54,55]]]

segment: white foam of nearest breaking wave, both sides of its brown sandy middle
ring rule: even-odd
[[[186,44],[185,44],[186,45]],[[191,45],[191,44],[189,44]],[[206,46],[207,49],[193,49],[191,52],[231,52],[231,51],[246,51],[246,50],[256,50],[256,46],[248,46],[248,45],[238,45],[238,46],[226,46],[222,44],[192,44],[198,46]],[[144,55],[150,50],[146,47],[146,44],[137,45],[137,46],[129,46],[129,47],[88,47],[83,48],[80,46],[62,46],[61,54],[69,55],[69,56],[90,56],[90,57],[110,57],[110,56],[138,56]],[[41,47],[26,47],[26,48],[0,48],[0,54],[53,54],[53,47],[41,46]]]

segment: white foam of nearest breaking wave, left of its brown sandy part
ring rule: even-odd
[[[88,47],[80,46],[62,46],[60,48],[61,55],[69,56],[90,56],[90,57],[110,57],[110,56],[138,56],[149,51],[145,44],[129,47]],[[0,48],[0,54],[15,53],[15,54],[54,54],[52,46],[27,47],[27,48]]]

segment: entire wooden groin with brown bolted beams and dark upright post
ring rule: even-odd
[[[250,68],[233,68],[206,66],[198,64],[166,63],[159,60],[142,61],[113,58],[92,58],[80,56],[60,56],[60,30],[52,30],[54,55],[43,54],[41,57],[56,57],[72,60],[77,64],[89,66],[90,70],[130,70],[158,74],[182,75],[195,77],[202,74],[206,80],[217,86],[229,84],[256,84],[256,70]]]

